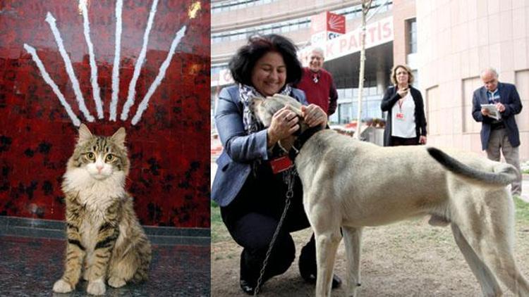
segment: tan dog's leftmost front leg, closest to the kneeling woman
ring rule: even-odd
[[[329,297],[332,289],[332,274],[334,270],[334,259],[340,244],[340,232],[329,232],[324,234],[315,233],[316,238],[316,296]]]

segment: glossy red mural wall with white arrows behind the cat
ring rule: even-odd
[[[209,227],[209,19],[209,1],[0,0],[0,215],[63,220],[83,122],[126,128],[142,224]]]

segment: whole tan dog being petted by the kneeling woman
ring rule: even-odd
[[[285,105],[300,115],[300,103],[287,96],[255,99],[250,108],[267,127]],[[300,122],[298,139],[305,139],[311,130]],[[299,145],[295,164],[316,236],[316,296],[331,294],[340,227],[348,260],[346,293],[357,296],[362,228],[424,215],[430,215],[431,225],[451,225],[484,296],[501,295],[497,277],[517,296],[529,296],[529,283],[513,259],[514,210],[505,187],[516,178],[511,165],[462,151],[450,151],[451,158],[426,146],[380,147],[329,129]]]

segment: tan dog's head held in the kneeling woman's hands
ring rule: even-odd
[[[303,116],[301,115],[301,103],[296,99],[293,99],[291,96],[285,96],[280,94],[275,94],[274,96],[268,96],[266,99],[254,98],[250,101],[250,110],[255,115],[258,121],[262,122],[262,125],[269,127],[272,122],[272,116],[277,110],[280,110],[284,106],[288,106],[296,115],[298,115],[298,124],[300,129],[296,131],[295,135],[300,134],[308,128],[308,125],[303,121]]]

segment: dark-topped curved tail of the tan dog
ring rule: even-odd
[[[518,175],[516,168],[509,164],[501,163],[494,167],[494,172],[485,172],[459,162],[439,148],[429,147],[427,151],[430,153],[430,156],[441,163],[446,169],[470,179],[506,186],[515,181]]]

